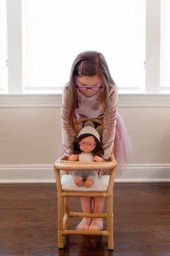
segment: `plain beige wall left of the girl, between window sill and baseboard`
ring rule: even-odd
[[[0,108],[0,164],[53,164],[61,140],[60,108]]]

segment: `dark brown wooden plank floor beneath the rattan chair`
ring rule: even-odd
[[[0,256],[170,256],[170,183],[114,184],[114,251],[106,237],[83,235],[58,249],[56,192],[55,184],[0,185]],[[81,209],[79,198],[70,205]]]

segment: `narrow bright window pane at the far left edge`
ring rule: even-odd
[[[0,93],[8,92],[6,0],[0,0]]]

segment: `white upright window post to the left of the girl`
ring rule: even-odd
[[[21,0],[7,0],[7,65],[9,94],[22,94],[21,17]]]

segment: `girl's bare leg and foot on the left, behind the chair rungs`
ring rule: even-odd
[[[83,212],[92,213],[92,197],[81,197]],[[76,227],[76,230],[88,230],[92,218],[83,218]]]

